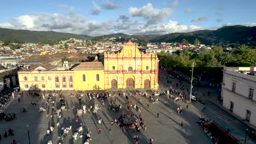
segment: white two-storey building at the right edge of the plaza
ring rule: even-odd
[[[223,106],[256,126],[256,67],[225,67]]]

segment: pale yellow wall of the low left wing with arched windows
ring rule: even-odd
[[[42,91],[48,90],[73,90],[75,83],[69,82],[69,76],[73,77],[73,71],[19,71],[19,83],[21,91],[28,91],[34,89],[41,89]],[[27,80],[24,77],[27,77]],[[34,77],[37,76],[38,81],[34,81]],[[44,77],[44,79],[41,79]],[[48,79],[48,78],[51,79]],[[59,77],[59,87],[56,85],[56,77]],[[66,77],[66,87],[63,85],[62,77]],[[69,86],[71,84],[73,86]],[[43,87],[43,85],[45,87]]]

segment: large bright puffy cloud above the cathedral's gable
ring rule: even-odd
[[[154,9],[151,3],[141,8],[130,7],[128,10],[132,17],[143,17],[144,20],[147,20],[146,26],[161,23],[172,13],[172,8]]]

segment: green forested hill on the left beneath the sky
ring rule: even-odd
[[[69,39],[69,38],[77,38],[77,39],[91,39],[92,37],[88,35],[79,35],[72,33],[60,33],[53,31],[28,31],[28,30],[16,30],[16,29],[8,29],[8,28],[0,28],[0,41],[9,39],[12,41],[13,39],[22,40],[29,43],[39,43],[48,39],[51,40],[60,40],[60,39]]]

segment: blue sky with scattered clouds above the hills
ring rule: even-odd
[[[8,0],[0,27],[84,35],[158,34],[256,26],[255,0]]]

